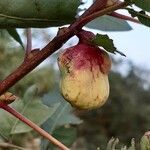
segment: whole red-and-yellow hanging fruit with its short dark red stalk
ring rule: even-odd
[[[79,43],[65,49],[58,57],[63,97],[80,109],[102,106],[109,96],[109,55],[91,40],[92,32],[81,31]]]

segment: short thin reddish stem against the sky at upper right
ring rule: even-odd
[[[125,15],[122,15],[122,14],[119,14],[119,13],[116,13],[116,12],[112,12],[111,14],[109,14],[110,16],[113,16],[113,17],[116,17],[116,18],[119,18],[119,19],[123,19],[123,20],[128,20],[128,21],[131,21],[131,22],[134,22],[134,23],[140,23],[139,20],[137,19],[134,19],[132,17],[129,17],[129,16],[125,16]]]

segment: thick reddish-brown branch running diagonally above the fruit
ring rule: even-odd
[[[38,51],[31,58],[26,59],[14,72],[0,82],[0,95],[12,87],[17,81],[22,79],[30,71],[36,68],[41,62],[43,62],[48,56],[59,49],[69,38],[77,33],[85,24],[95,19],[96,17],[104,14],[111,13],[117,9],[126,7],[128,4],[125,2],[114,4],[113,6],[104,8],[100,11],[92,13],[88,16],[82,16],[71,24],[65,31],[60,32],[51,42],[49,42],[41,51]]]

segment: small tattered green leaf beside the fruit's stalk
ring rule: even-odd
[[[113,40],[108,37],[108,35],[97,34],[95,39],[92,41],[97,46],[102,46],[106,51],[110,53],[119,53],[122,56],[125,56],[122,52],[118,51],[114,46]]]

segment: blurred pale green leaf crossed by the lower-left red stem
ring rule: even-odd
[[[17,104],[17,107],[20,109],[22,107],[22,111],[20,112],[22,115],[36,123],[37,125],[42,125],[52,114],[56,111],[59,104],[49,108],[42,104],[40,100],[30,100],[25,106],[22,106],[21,101],[20,104]],[[25,133],[29,132],[32,129],[28,127],[23,122],[16,120],[11,129],[11,134]]]

